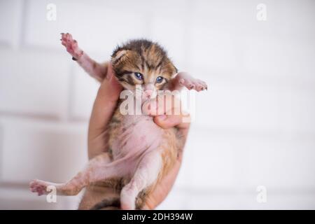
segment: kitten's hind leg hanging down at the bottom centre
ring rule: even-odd
[[[158,151],[144,156],[130,183],[120,193],[121,209],[135,209],[137,195],[158,179],[161,167],[162,158]]]

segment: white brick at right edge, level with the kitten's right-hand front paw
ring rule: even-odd
[[[236,71],[212,74],[192,69],[209,85],[195,96],[195,122],[211,128],[314,132],[314,82],[251,76]],[[278,76],[279,77],[279,76]]]

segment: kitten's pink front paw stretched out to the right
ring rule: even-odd
[[[186,72],[179,73],[177,76],[179,84],[185,86],[188,90],[196,90],[197,92],[208,90],[207,83],[203,80],[193,78]]]

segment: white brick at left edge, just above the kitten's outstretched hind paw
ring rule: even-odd
[[[87,162],[86,125],[1,119],[1,180],[68,181]]]

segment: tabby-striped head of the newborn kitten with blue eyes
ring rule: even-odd
[[[134,93],[141,87],[143,98],[156,97],[158,90],[167,89],[169,80],[177,72],[158,43],[142,39],[118,46],[111,63],[120,84]]]

